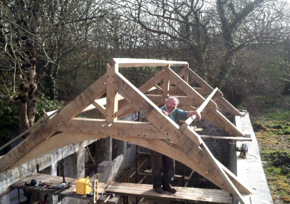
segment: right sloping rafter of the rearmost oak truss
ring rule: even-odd
[[[208,94],[213,92],[213,88],[208,85],[202,78],[200,78],[195,72],[188,68],[188,74],[191,79],[193,79],[198,85],[200,85]],[[231,115],[240,115],[242,114],[229,102],[223,98],[223,94],[219,91],[215,97],[217,100],[225,107],[225,110]]]

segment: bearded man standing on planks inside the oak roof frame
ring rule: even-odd
[[[177,108],[177,105],[178,100],[175,97],[169,97],[165,102],[165,106],[163,106],[161,110],[174,122],[176,120],[186,120],[191,115],[196,115],[196,118],[198,120],[201,119],[201,115],[197,111],[184,111]],[[150,154],[153,188],[155,192],[159,194],[163,194],[163,191],[176,193],[177,190],[175,188],[172,188],[172,186],[170,185],[170,182],[173,181],[174,178],[174,159],[153,150],[150,150]],[[162,169],[162,167],[164,167],[164,169]]]

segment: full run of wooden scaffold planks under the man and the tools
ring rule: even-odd
[[[36,190],[33,190],[34,187],[26,187],[25,182],[29,183],[32,179],[35,179],[37,182],[45,183],[51,187],[58,185],[62,182],[62,177],[51,176],[47,174],[38,174],[32,173],[16,183],[11,185],[11,188],[16,189],[25,189],[28,191],[39,192],[38,190],[41,187],[38,187]],[[65,178],[66,182],[71,181],[71,178]],[[85,195],[77,195],[76,193],[71,193],[73,189],[76,188],[75,181],[71,182],[74,184],[73,187],[67,189],[60,193],[66,197],[93,201],[93,198],[88,198]],[[94,186],[94,182],[89,183],[90,186]],[[110,198],[107,203],[117,204],[121,195],[124,196],[133,196],[133,197],[143,197],[147,199],[156,199],[156,200],[166,200],[166,201],[179,201],[179,202],[190,202],[195,204],[233,204],[233,199],[230,196],[230,193],[227,193],[223,190],[213,190],[213,189],[197,189],[197,188],[184,188],[184,187],[175,187],[177,188],[176,194],[171,194],[169,192],[164,192],[164,194],[157,194],[152,185],[143,185],[143,184],[130,184],[130,183],[119,183],[111,182],[110,184],[100,183],[98,185],[99,193],[110,192],[114,193],[116,196]],[[92,188],[89,188],[90,192],[93,192]],[[50,196],[54,193],[54,190],[43,189],[41,193],[48,193]],[[102,197],[102,201],[106,199],[105,196]],[[103,202],[102,202],[103,203]]]

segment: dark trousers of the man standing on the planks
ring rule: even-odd
[[[174,159],[153,150],[150,150],[150,154],[153,188],[161,187],[162,183],[170,183],[173,181],[175,168]]]

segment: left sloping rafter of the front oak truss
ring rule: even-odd
[[[31,149],[36,147],[45,138],[50,137],[55,133],[55,130],[65,123],[68,119],[74,117],[81,112],[91,102],[102,96],[106,91],[106,86],[103,84],[106,81],[106,76],[102,76],[95,83],[89,86],[73,101],[62,108],[54,117],[50,118],[45,124],[41,124],[34,132],[32,132],[20,144],[6,153],[0,158],[0,172],[7,170],[16,161],[22,158]]]

